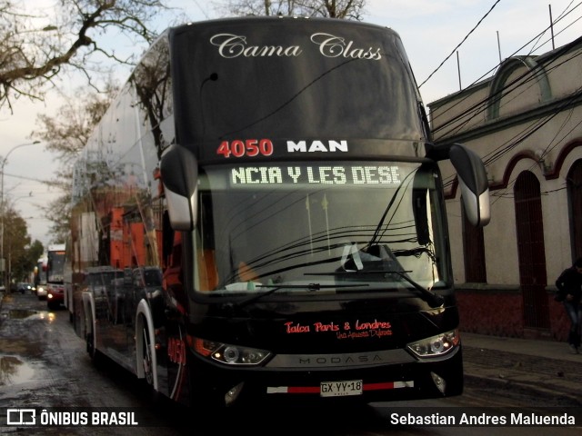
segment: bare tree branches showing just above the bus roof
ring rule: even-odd
[[[227,0],[230,15],[306,15],[361,20],[366,0]]]

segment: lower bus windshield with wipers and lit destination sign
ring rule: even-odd
[[[437,174],[402,162],[206,167],[196,289],[214,296],[448,285]]]

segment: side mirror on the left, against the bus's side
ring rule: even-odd
[[[170,225],[174,230],[191,231],[196,225],[198,161],[190,150],[171,145],[160,162],[160,173]]]

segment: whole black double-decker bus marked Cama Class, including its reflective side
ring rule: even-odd
[[[485,225],[483,163],[431,142],[393,30],[170,28],[75,163],[75,329],[185,404],[458,395],[447,159]]]

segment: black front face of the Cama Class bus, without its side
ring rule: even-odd
[[[184,389],[220,404],[460,394],[443,182],[396,33],[251,18],[169,43]]]

